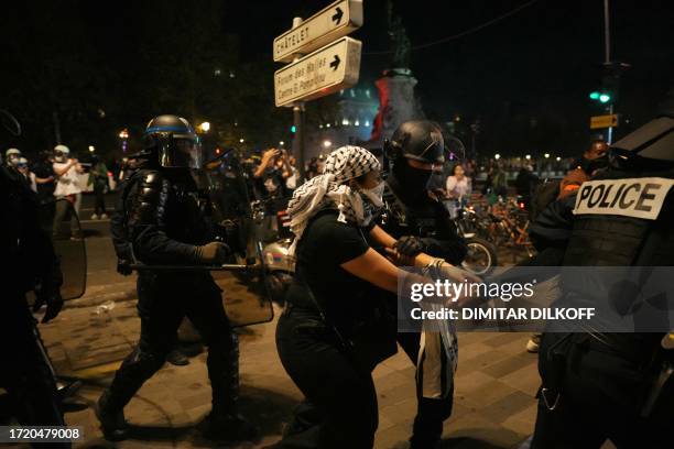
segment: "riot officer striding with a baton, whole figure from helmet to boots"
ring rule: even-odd
[[[140,156],[123,189],[123,207],[112,221],[124,228],[116,230],[122,237],[117,243],[123,243],[124,233],[131,242],[121,248],[122,259],[132,256],[148,267],[138,276],[141,336],[98,401],[101,428],[108,439],[128,437],[123,407],[162,366],[187,316],[208,346],[213,409],[203,426],[205,436],[250,439],[256,429],[237,413],[238,340],[222,307],[221,289],[207,271],[180,270],[180,265],[224,263],[229,252],[216,241],[218,229],[199,204],[191,173],[202,165],[198,136],[185,119],[159,116],[145,129]],[[159,271],[152,265],[178,266]]]

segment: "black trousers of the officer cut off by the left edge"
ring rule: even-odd
[[[9,394],[12,414],[24,426],[64,426],[56,384],[25,299],[2,299],[0,386]],[[70,447],[65,442],[33,446]]]

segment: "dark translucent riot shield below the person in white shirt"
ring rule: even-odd
[[[78,298],[87,285],[87,250],[75,207],[65,198],[56,201],[52,237],[63,273],[61,296]]]

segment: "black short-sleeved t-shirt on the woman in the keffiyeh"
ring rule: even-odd
[[[339,266],[365,254],[370,247],[365,231],[337,221],[337,210],[326,209],[309,220],[297,245],[297,273],[287,299],[315,310],[303,287],[306,281],[328,318],[348,329],[376,287]]]

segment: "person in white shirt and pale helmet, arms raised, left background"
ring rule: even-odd
[[[78,230],[77,215],[81,198],[79,186],[79,174],[84,173],[81,165],[76,158],[68,158],[70,150],[66,145],[54,146],[54,174],[56,175],[56,216],[54,217],[54,236],[63,231],[61,223],[70,211],[75,211],[70,225],[73,230]],[[65,201],[63,200],[65,199]]]

